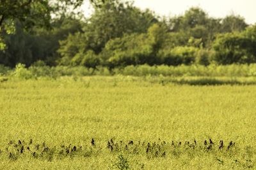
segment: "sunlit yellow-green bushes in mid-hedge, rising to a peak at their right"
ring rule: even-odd
[[[103,52],[109,55],[109,67],[161,64],[157,53],[164,45],[165,36],[166,27],[154,24],[148,29],[147,34],[132,34],[109,41]]]

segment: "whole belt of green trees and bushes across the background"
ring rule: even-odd
[[[20,4],[17,16],[5,20],[5,27],[0,25],[0,39],[5,46],[0,50],[0,64],[31,66],[41,60],[48,66],[113,69],[141,64],[207,66],[256,62],[256,25],[246,24],[239,15],[213,18],[193,7],[184,15],[159,17],[154,11],[137,8],[132,1],[105,0],[91,1],[94,12],[84,18],[67,12],[68,5],[76,8],[82,1],[67,2],[73,4],[65,4],[65,9],[61,8],[63,4],[51,9],[44,3],[37,7],[40,13],[48,8],[58,11],[54,18],[51,13],[17,17],[22,13]],[[0,13],[0,18],[3,16]],[[37,22],[42,26],[35,27]]]

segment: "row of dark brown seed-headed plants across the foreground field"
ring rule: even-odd
[[[91,146],[90,146],[91,145]],[[49,146],[45,145],[45,142],[42,143],[42,145],[33,144],[33,140],[30,139],[28,143],[26,143],[24,140],[20,141],[18,140],[17,143],[14,141],[10,141],[8,143],[8,146],[5,148],[5,153],[8,153],[8,157],[16,158],[19,155],[26,153],[30,153],[32,157],[38,158],[42,157],[44,154],[51,154],[51,155],[74,155],[76,153],[83,153],[84,148],[90,148],[91,151],[93,150],[102,150],[105,147],[97,146],[97,143],[95,142],[95,139],[92,138],[90,145],[86,146],[80,146],[80,145],[61,145],[60,147],[54,146],[50,148]],[[106,149],[109,150],[109,152],[127,152],[127,153],[134,153],[134,154],[146,154],[146,155],[153,155],[154,157],[166,157],[167,153],[170,153],[170,150],[173,149],[179,149],[181,147],[190,148],[191,150],[195,150],[196,148],[199,148],[200,150],[209,151],[212,149],[218,149],[220,151],[223,150],[230,150],[230,148],[233,148],[236,146],[236,143],[233,141],[230,141],[227,146],[224,146],[223,140],[220,140],[218,145],[216,145],[212,139],[209,139],[209,141],[205,140],[202,145],[198,144],[196,140],[193,142],[185,141],[185,143],[182,145],[182,142],[175,143],[172,141],[171,143],[168,143],[166,141],[161,141],[159,139],[157,142],[154,143],[146,143],[145,141],[141,142],[138,141],[138,143],[135,143],[134,141],[128,141],[127,143],[124,143],[123,141],[114,142],[113,139],[110,139],[106,145]],[[0,154],[4,153],[4,151],[0,150]],[[82,154],[83,155],[83,154]]]

